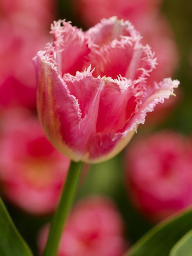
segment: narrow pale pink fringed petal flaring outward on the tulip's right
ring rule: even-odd
[[[180,82],[171,78],[164,78],[159,84],[154,83],[154,87],[147,88],[146,97],[143,98],[142,104],[138,111],[126,124],[124,135],[136,129],[138,124],[144,124],[145,117],[148,112],[152,112],[158,103],[163,103],[164,99],[169,99],[170,95],[174,95],[174,88],[177,88]],[[175,96],[175,95],[174,95]]]

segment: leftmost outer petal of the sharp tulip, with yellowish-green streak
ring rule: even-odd
[[[79,153],[74,156],[76,153],[69,149],[68,144],[73,134],[78,131],[81,120],[80,108],[76,98],[70,95],[57,68],[46,60],[44,53],[38,52],[33,59],[37,74],[39,118],[52,144],[73,159],[79,157]]]

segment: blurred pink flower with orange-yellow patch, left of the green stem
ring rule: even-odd
[[[68,166],[69,159],[52,147],[35,116],[21,109],[4,113],[0,182],[12,203],[31,214],[54,211]]]

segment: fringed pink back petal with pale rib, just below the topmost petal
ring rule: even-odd
[[[146,78],[156,66],[156,58],[151,48],[143,46],[138,40],[123,37],[121,41],[114,40],[99,49],[92,49],[85,66],[95,67],[94,76],[118,75],[127,79]]]

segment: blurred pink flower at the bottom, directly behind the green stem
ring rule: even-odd
[[[38,239],[44,249],[46,226]],[[114,204],[106,197],[90,196],[77,203],[61,236],[59,256],[122,256],[127,248],[123,221]]]

